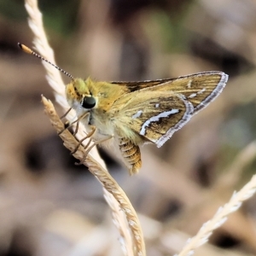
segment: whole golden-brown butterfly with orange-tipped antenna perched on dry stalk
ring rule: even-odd
[[[19,46],[47,61],[25,45]],[[142,166],[141,145],[154,143],[160,148],[221,93],[229,78],[223,72],[210,71],[177,79],[99,82],[75,79],[56,68],[71,78],[66,86],[67,102],[79,122],[92,131],[97,142],[113,139],[131,174]]]

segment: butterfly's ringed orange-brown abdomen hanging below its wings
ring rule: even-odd
[[[139,146],[132,143],[129,139],[119,138],[119,149],[125,162],[129,166],[130,174],[136,174],[142,167],[141,151]]]

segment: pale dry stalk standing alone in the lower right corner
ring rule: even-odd
[[[227,220],[228,215],[241,207],[241,203],[252,197],[256,192],[256,175],[239,191],[234,192],[230,201],[224,207],[219,207],[213,218],[201,226],[197,235],[190,238],[187,244],[183,247],[182,252],[176,256],[190,256],[194,254],[195,248],[201,247],[206,243],[212,232],[220,227]]]

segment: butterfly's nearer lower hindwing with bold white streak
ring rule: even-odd
[[[189,121],[194,108],[178,94],[149,90],[123,96],[113,110],[116,127],[130,129],[160,147]]]

